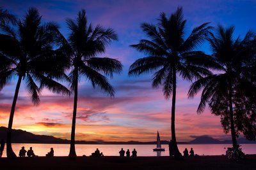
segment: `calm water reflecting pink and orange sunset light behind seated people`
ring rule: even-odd
[[[12,148],[16,155],[19,155],[19,150],[22,146],[25,146],[25,149],[28,150],[29,147],[33,147],[34,153],[38,156],[45,156],[47,152],[50,152],[50,148],[54,148],[54,156],[67,156],[69,153],[68,144],[35,144],[35,143],[13,143]],[[193,148],[195,154],[198,155],[222,155],[225,154],[224,147],[230,147],[229,144],[216,144],[216,145],[179,145],[179,150],[183,153],[185,148]],[[100,152],[103,152],[106,156],[118,156],[120,148],[124,148],[126,151],[129,149],[132,151],[136,148],[138,156],[168,156],[168,145],[162,145],[166,149],[165,152],[153,152],[153,148],[156,145],[76,145],[76,154],[77,156],[82,155],[91,155],[92,152],[99,148]],[[243,144],[241,146],[243,152],[246,154],[256,154],[256,144]],[[6,147],[4,148],[3,157],[6,157]]]

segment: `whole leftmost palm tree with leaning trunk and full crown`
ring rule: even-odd
[[[17,85],[13,97],[12,109],[6,138],[7,157],[16,155],[12,150],[12,124],[20,83],[25,80],[26,90],[33,104],[40,103],[42,89],[46,87],[57,94],[70,95],[70,91],[55,80],[66,80],[64,70],[68,67],[68,58],[61,51],[52,50],[56,38],[56,24],[41,24],[38,10],[29,8],[24,20],[20,20],[17,29],[5,25],[0,34],[0,90],[16,77]],[[65,62],[66,61],[66,62]]]

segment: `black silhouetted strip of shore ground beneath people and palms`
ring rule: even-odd
[[[93,169],[256,169],[256,155],[246,155],[245,160],[228,160],[225,156],[188,157],[184,160],[173,160],[169,157],[77,157],[69,160],[68,157],[22,157],[15,160],[0,158],[0,169],[54,169],[54,170],[93,170]]]

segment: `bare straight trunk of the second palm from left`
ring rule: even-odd
[[[74,69],[75,74],[75,87],[74,87],[74,109],[72,118],[72,130],[71,130],[71,141],[70,141],[70,151],[68,157],[70,159],[76,159],[76,148],[75,148],[75,132],[76,132],[76,110],[77,110],[77,86],[78,86],[78,68]]]

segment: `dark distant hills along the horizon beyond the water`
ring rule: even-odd
[[[0,139],[6,140],[6,127],[0,127]],[[254,143],[256,141],[248,141],[245,138],[239,138],[238,143]],[[57,143],[68,144],[70,140],[55,138],[47,135],[36,135],[31,132],[16,130],[12,131],[12,143]],[[156,145],[156,141],[140,142],[140,141],[127,141],[127,142],[108,142],[108,141],[76,141],[77,144],[106,144],[106,145]],[[169,141],[161,141],[162,145],[168,145]],[[211,138],[210,136],[198,136],[189,142],[178,142],[178,144],[230,144],[232,141],[219,141],[218,139]]]

